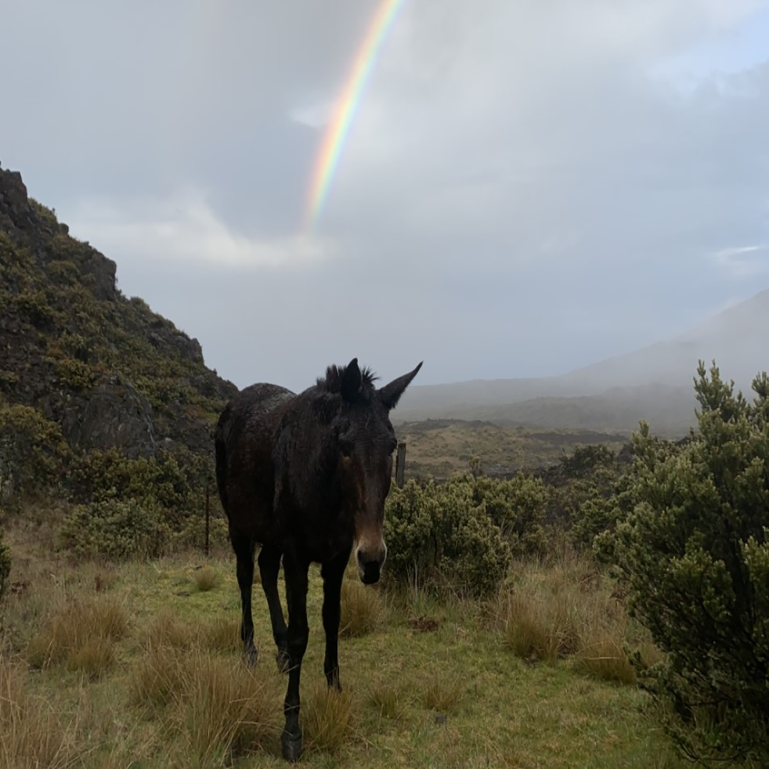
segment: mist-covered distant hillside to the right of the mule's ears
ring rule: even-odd
[[[414,384],[395,421],[483,419],[497,424],[630,432],[646,419],[682,435],[694,424],[697,362],[715,359],[724,378],[751,392],[769,368],[769,290],[707,318],[684,334],[558,377]]]

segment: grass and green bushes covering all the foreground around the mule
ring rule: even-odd
[[[345,575],[341,694],[311,571],[305,761],[765,766],[765,375],[754,389],[748,403],[701,367],[687,441],[642,424],[630,456],[581,447],[510,479],[470,458],[393,488],[384,580]],[[223,532],[208,559],[185,533],[188,475],[93,462],[47,517],[40,501],[6,516],[0,767],[283,765],[285,677],[258,585],[249,671]]]

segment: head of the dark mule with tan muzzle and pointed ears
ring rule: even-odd
[[[375,388],[371,371],[358,368],[358,358],[344,369],[335,369],[342,400],[337,441],[343,504],[355,518],[355,562],[365,584],[378,581],[387,558],[382,531],[384,500],[398,446],[389,413],[421,366],[382,388]]]

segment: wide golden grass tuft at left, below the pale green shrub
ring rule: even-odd
[[[112,642],[122,638],[126,631],[128,614],[115,598],[67,601],[32,636],[27,645],[27,660],[33,667],[66,662],[72,669],[101,674],[112,663]]]

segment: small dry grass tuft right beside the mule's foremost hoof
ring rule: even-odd
[[[352,734],[352,697],[325,681],[302,698],[300,718],[307,751],[336,754]]]

